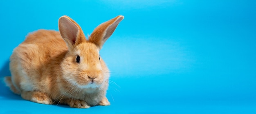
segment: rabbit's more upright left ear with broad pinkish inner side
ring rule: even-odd
[[[59,18],[58,29],[70,49],[86,41],[81,27],[68,16]]]

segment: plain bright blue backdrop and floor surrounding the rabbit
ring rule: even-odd
[[[0,114],[256,114],[255,0],[0,0]],[[5,87],[9,56],[67,15],[90,34],[125,16],[100,54],[110,106],[23,100]]]

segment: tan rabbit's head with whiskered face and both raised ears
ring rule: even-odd
[[[117,16],[94,29],[88,40],[81,27],[71,18],[59,18],[58,27],[68,51],[61,63],[62,78],[79,88],[102,87],[109,71],[99,51],[124,16]]]

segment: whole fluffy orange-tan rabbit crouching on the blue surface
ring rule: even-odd
[[[117,16],[102,23],[88,39],[68,16],[59,18],[59,32],[32,32],[10,56],[6,85],[35,103],[76,108],[110,105],[106,98],[110,73],[99,51],[123,19]]]

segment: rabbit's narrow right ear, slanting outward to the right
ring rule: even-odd
[[[104,42],[113,34],[117,25],[123,19],[124,16],[117,16],[96,27],[89,38],[89,42],[94,43],[101,49]]]

